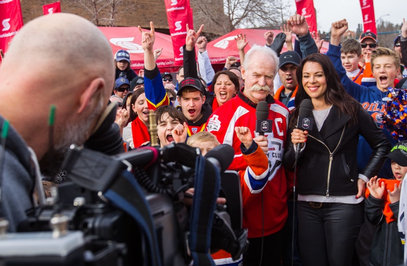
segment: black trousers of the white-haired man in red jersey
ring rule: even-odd
[[[261,259],[261,238],[249,238],[249,248],[243,254],[244,266],[280,266],[282,253],[283,229],[263,239],[263,259]]]

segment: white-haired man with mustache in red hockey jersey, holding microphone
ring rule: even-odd
[[[253,46],[247,52],[241,69],[245,86],[236,97],[216,109],[207,123],[207,130],[214,134],[220,143],[229,144],[235,150],[230,170],[247,168],[242,153],[251,154],[262,149],[269,159],[269,173],[254,176],[254,173],[248,170],[247,175],[241,179],[244,198],[243,227],[248,228],[250,242],[249,249],[243,256],[245,265],[259,265],[260,260],[263,261],[261,265],[279,265],[282,254],[282,228],[287,219],[287,197],[281,158],[289,112],[269,94],[273,90],[277,66],[278,59],[274,51],[268,47]],[[256,107],[260,101],[267,102],[268,119],[272,120],[272,132],[264,136],[255,132]],[[249,149],[241,150],[244,146],[241,146],[236,135],[236,126],[249,127],[254,140]]]

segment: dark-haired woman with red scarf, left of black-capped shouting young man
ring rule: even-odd
[[[149,106],[144,89],[133,92],[130,100],[129,123],[123,128],[123,140],[132,149],[138,148],[150,141],[149,135]]]

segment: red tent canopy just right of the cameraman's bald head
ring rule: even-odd
[[[114,54],[121,49],[130,53],[131,68],[139,70],[144,67],[144,51],[141,48],[141,34],[137,27],[99,27],[110,43]],[[174,65],[171,37],[155,32],[154,49],[163,47],[157,65],[161,72],[176,72],[179,67]],[[113,58],[112,56],[112,58]]]

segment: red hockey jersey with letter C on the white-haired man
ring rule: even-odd
[[[273,120],[273,132],[265,135],[269,140],[268,164],[271,165],[271,169],[260,179],[256,177],[257,170],[246,171],[246,176],[244,178],[241,176],[243,225],[249,229],[249,238],[262,235],[261,191],[263,191],[264,205],[264,235],[268,236],[279,231],[287,218],[287,184],[281,159],[287,137],[288,109],[282,103],[274,101],[272,96],[267,97],[267,102],[270,107],[268,119]],[[249,127],[254,138],[257,135],[254,132],[256,105],[239,92],[238,96],[216,109],[207,124],[207,130],[214,134],[220,143],[229,144],[235,149],[235,158],[229,169],[246,170],[248,161],[240,150],[241,142],[236,136],[235,126]],[[255,153],[251,155],[256,156]],[[256,159],[250,161],[258,163]]]

